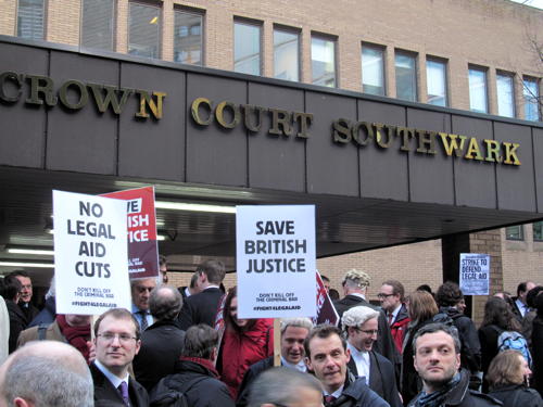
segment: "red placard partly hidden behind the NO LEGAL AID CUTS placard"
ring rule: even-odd
[[[128,221],[128,272],[130,279],[159,276],[154,187],[104,193],[126,201]]]

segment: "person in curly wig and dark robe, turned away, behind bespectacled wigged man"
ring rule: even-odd
[[[379,334],[377,335],[377,341],[374,344],[374,349],[392,363],[396,371],[397,379],[402,359],[396,346],[394,345],[392,334],[390,333],[390,327],[387,321],[387,317],[384,316],[382,309],[369,304],[369,302],[366,301],[366,292],[369,287],[370,280],[371,278],[362,270],[356,270],[354,268],[352,270],[349,270],[345,274],[345,277],[343,277],[343,281],[341,282],[341,285],[343,287],[343,294],[345,296],[342,300],[336,301],[333,303],[333,306],[338,311],[340,320],[345,310],[359,305],[370,307],[379,313]]]

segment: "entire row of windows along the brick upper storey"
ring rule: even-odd
[[[17,35],[43,38],[45,0],[20,0]],[[89,48],[114,50],[115,0],[81,0],[80,43]],[[128,53],[147,58],[161,58],[161,8],[149,3],[129,2]],[[203,65],[203,16],[201,12],[175,9],[174,61]],[[235,20],[233,71],[262,75],[262,23]],[[274,77],[300,80],[301,31],[275,26]],[[312,34],[311,80],[315,85],[337,87],[337,38]],[[362,44],[362,90],[386,96],[386,47]],[[418,101],[417,54],[394,50],[396,97]],[[427,102],[438,106],[449,105],[447,61],[427,56]],[[468,67],[469,106],[473,112],[489,113],[488,68]],[[516,117],[515,76],[496,72],[497,113]],[[540,94],[536,78],[522,78],[525,118],[540,119]]]

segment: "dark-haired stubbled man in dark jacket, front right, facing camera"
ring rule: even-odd
[[[414,365],[422,380],[422,391],[408,407],[490,407],[494,398],[470,390],[469,372],[460,367],[460,341],[456,328],[429,323],[415,334]]]

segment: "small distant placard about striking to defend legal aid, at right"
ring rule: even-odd
[[[489,295],[490,256],[460,253],[460,290],[464,295]]]

